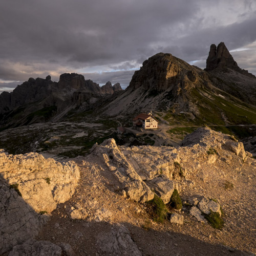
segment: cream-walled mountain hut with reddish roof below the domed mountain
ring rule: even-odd
[[[158,129],[158,121],[152,113],[141,113],[133,119],[133,126],[142,127],[145,130]]]

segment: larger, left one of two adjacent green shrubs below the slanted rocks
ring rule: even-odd
[[[163,222],[163,220],[166,219],[168,209],[160,197],[155,195],[147,204],[152,207],[151,214],[154,221]]]

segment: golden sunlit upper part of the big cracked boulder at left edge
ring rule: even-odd
[[[22,198],[38,212],[51,212],[57,203],[67,201],[80,178],[73,161],[61,164],[37,153],[0,153],[0,174],[9,184],[18,184]]]

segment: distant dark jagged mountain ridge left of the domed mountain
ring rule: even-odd
[[[122,91],[119,83],[105,86],[82,75],[71,73],[60,75],[58,82],[50,76],[46,79],[29,78],[13,92],[0,95],[0,127],[27,125],[59,118],[75,108],[88,111],[101,101]]]

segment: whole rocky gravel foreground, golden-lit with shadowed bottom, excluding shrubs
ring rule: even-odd
[[[0,167],[4,255],[256,253],[256,160],[229,135],[199,129],[177,148],[109,139],[67,163],[1,152]],[[147,201],[167,204],[175,189],[182,209],[154,221]]]

